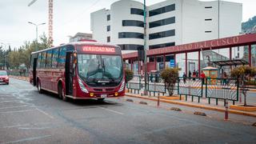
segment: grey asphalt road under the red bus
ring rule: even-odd
[[[126,102],[63,102],[0,85],[0,143],[255,143],[256,127]]]

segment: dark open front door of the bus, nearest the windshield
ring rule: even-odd
[[[66,95],[73,95],[73,53],[66,52],[66,66],[65,66],[65,83],[66,83]]]

